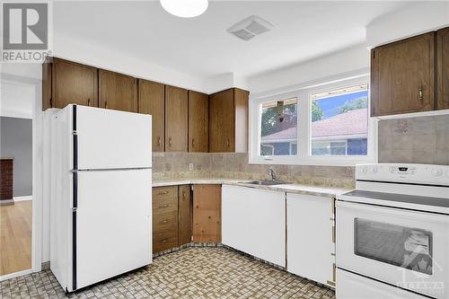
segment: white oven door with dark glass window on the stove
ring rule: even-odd
[[[336,255],[339,268],[449,298],[449,215],[338,201]]]

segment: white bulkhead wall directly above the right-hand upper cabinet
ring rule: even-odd
[[[449,1],[417,2],[383,15],[366,26],[366,46],[374,48],[449,26]]]

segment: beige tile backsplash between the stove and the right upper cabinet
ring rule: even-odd
[[[379,121],[379,163],[449,165],[449,115]]]

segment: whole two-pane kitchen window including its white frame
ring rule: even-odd
[[[250,101],[250,163],[375,162],[368,78],[317,84]]]

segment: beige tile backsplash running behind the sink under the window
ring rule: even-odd
[[[192,171],[189,171],[189,163],[193,163]],[[155,180],[210,177],[268,180],[269,166],[277,172],[279,180],[329,187],[352,188],[354,185],[354,167],[250,164],[248,154],[153,154]]]

